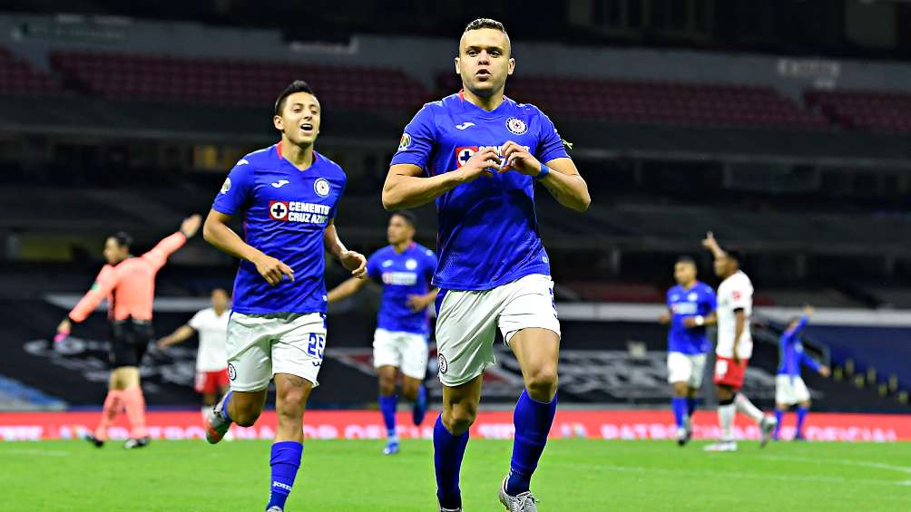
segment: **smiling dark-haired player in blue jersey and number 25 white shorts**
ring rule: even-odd
[[[363,278],[366,260],[339,239],[334,219],[347,178],[313,149],[320,102],[306,83],[288,85],[272,124],[281,141],[244,156],[212,205],[203,236],[241,258],[228,322],[230,391],[207,417],[206,438],[218,443],[230,424],[251,427],[275,378],[278,428],[271,447],[271,494],[279,512],[301,466],[303,410],[322,366],[328,250]],[[244,237],[229,226],[244,218]]]

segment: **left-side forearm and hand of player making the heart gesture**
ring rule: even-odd
[[[481,176],[493,176],[500,168],[500,157],[493,148],[478,151],[464,166],[455,171],[424,177],[424,169],[413,164],[389,167],[383,185],[383,207],[387,211],[414,208],[433,201],[456,186],[475,181]]]

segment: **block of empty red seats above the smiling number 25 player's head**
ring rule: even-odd
[[[324,105],[405,109],[426,99],[417,81],[384,67],[71,51],[52,53],[51,63],[75,84],[109,99],[268,105],[294,79],[312,85]]]

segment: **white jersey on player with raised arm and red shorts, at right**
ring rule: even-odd
[[[715,354],[722,357],[733,357],[734,335],[737,331],[737,320],[734,312],[743,310],[745,322],[740,343],[737,345],[737,356],[749,359],[752,356],[752,335],[750,334],[750,317],[752,316],[752,282],[741,270],[722,281],[718,286],[718,346]]]

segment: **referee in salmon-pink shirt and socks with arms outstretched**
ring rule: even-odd
[[[107,299],[107,317],[111,321],[111,342],[108,360],[111,366],[107,397],[101,412],[101,421],[94,434],[86,438],[96,447],[102,447],[107,440],[107,427],[121,409],[127,411],[130,437],[126,448],[148,445],[146,431],[146,399],[139,385],[139,366],[152,341],[152,301],[155,299],[155,276],[168,261],[168,256],[177,251],[187,238],[196,235],[200,229],[200,216],[189,216],[180,225],[180,230],[161,240],[148,253],[134,257],[129,252],[133,239],[120,232],[108,236],[104,255],[107,265],[95,278],[92,289],[57,326],[55,340],[69,335],[72,322],[82,322],[101,301]]]

